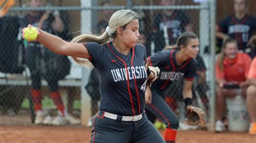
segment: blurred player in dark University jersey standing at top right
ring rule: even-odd
[[[216,37],[225,41],[232,38],[238,42],[239,51],[251,58],[255,55],[256,18],[247,14],[247,0],[234,0],[234,14],[223,19],[217,26]]]

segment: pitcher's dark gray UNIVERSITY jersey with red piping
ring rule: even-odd
[[[100,107],[122,116],[139,115],[145,108],[146,49],[137,44],[127,55],[119,53],[112,42],[84,43],[89,60],[99,71]]]

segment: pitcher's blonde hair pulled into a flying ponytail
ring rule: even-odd
[[[136,12],[132,10],[119,10],[114,12],[109,20],[109,31],[105,31],[102,35],[90,35],[82,34],[73,38],[71,42],[96,42],[100,45],[106,44],[107,42],[112,41],[116,37],[117,27],[126,28],[126,25],[132,22],[132,20],[138,19]],[[93,67],[91,62],[87,59],[78,59],[75,56],[72,56],[72,59],[79,65],[85,67]]]

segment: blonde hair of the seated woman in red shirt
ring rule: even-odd
[[[230,44],[232,42],[237,44],[237,41],[235,41],[234,39],[226,39],[225,41],[223,41],[223,43],[221,45],[221,52],[219,53],[218,58],[217,58],[217,63],[219,65],[219,68],[221,71],[224,70],[224,63],[223,63],[224,58],[225,58],[224,49],[226,48],[227,44]]]

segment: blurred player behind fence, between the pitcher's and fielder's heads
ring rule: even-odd
[[[160,5],[176,5],[176,0],[160,0]],[[152,40],[155,53],[165,46],[174,45],[179,35],[185,31],[192,32],[190,17],[183,10],[162,10],[153,20]]]

